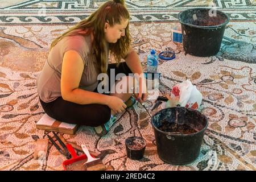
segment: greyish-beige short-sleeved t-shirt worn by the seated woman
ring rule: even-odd
[[[89,36],[67,36],[61,39],[49,52],[48,59],[43,70],[36,80],[39,97],[44,102],[51,102],[61,96],[60,77],[64,53],[75,50],[84,61],[79,88],[93,91],[97,88],[97,76],[100,70],[97,68],[96,56],[92,52],[92,42]],[[108,51],[107,51],[108,52]]]

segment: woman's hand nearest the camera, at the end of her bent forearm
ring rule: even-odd
[[[110,109],[112,109],[115,113],[122,113],[127,107],[125,102],[116,96],[109,96],[107,105]]]

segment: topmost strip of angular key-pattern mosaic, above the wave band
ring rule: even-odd
[[[17,0],[14,2],[2,3],[0,9],[3,10],[27,10],[27,9],[42,9],[43,7],[47,10],[88,10],[88,9],[97,9],[104,0]],[[210,6],[212,3],[215,3],[217,8],[226,8],[232,9],[234,7],[242,8],[255,8],[256,2],[254,0],[229,0],[229,1],[202,1],[202,0],[127,0],[126,6],[130,10],[175,10],[175,9],[185,9],[192,7],[205,7]]]

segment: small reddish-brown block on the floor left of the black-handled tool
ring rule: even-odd
[[[46,157],[48,150],[48,139],[38,139],[36,140],[36,147],[34,152],[34,159]]]

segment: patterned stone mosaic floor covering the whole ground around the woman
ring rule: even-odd
[[[35,80],[51,41],[102,2],[1,1],[0,170],[63,170],[65,157],[51,145],[46,164],[33,159],[35,141],[48,134],[35,128],[44,114]],[[182,45],[171,41],[177,13],[192,7],[209,7],[212,2],[230,17],[220,53],[212,57],[185,55]],[[199,158],[185,166],[160,160],[150,118],[139,105],[119,115],[105,137],[96,137],[93,129],[86,126],[80,127],[76,135],[64,137],[86,144],[90,150],[107,150],[103,162],[109,170],[255,171],[256,1],[133,0],[126,4],[131,13],[133,47],[143,62],[151,48],[176,52],[175,60],[160,63],[161,92],[168,92],[189,78],[203,93],[202,112],[209,118],[209,127]],[[153,104],[147,101],[148,110]],[[142,136],[147,142],[144,158],[139,161],[126,156],[124,140],[133,135]]]

